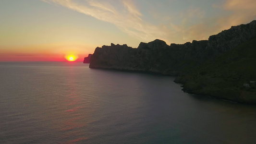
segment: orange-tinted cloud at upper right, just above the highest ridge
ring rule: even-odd
[[[177,32],[177,36],[192,41],[207,39],[231,26],[246,24],[256,19],[255,0],[226,0],[222,5],[214,4],[212,9],[217,9],[223,14],[206,17],[205,12],[199,8],[191,8],[182,12],[182,24],[171,24],[171,27]]]

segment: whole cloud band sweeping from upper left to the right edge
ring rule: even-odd
[[[156,38],[167,43],[207,39],[232,25],[248,23],[256,18],[255,0],[225,0],[222,5],[216,3],[213,10],[225,12],[223,15],[207,15],[206,9],[190,6],[181,10],[180,15],[163,14],[164,23],[153,24],[146,21],[135,0],[42,0],[60,4],[68,9],[90,15],[100,21],[116,25],[120,30],[141,41]],[[161,4],[161,3],[158,3]],[[163,5],[164,8],[164,5]],[[165,8],[168,8],[166,6]],[[152,18],[160,20],[161,13]],[[167,18],[166,18],[167,16]],[[154,20],[153,20],[154,21]],[[177,23],[178,22],[178,23]]]

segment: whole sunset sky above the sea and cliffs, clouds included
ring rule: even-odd
[[[0,61],[82,61],[111,43],[183,44],[253,20],[255,0],[0,0]]]

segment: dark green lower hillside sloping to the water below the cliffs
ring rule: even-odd
[[[176,78],[189,93],[256,104],[256,37]],[[252,82],[252,83],[250,83]],[[244,84],[249,84],[244,86]]]

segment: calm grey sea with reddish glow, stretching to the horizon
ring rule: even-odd
[[[0,144],[256,144],[256,107],[174,77],[81,62],[0,63]]]

